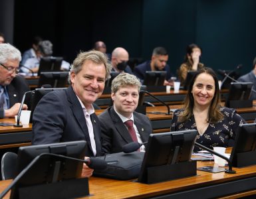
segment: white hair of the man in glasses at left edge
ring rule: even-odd
[[[0,44],[0,63],[5,64],[8,60],[21,61],[21,52],[11,44]]]

